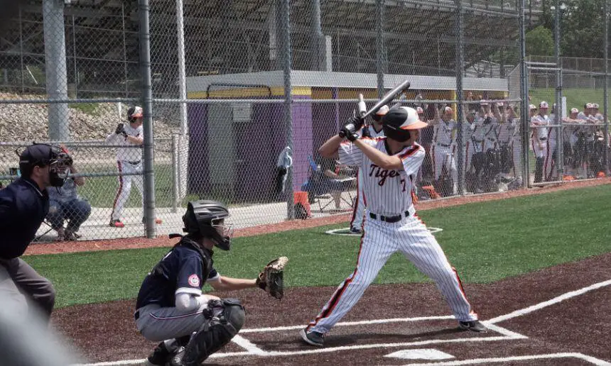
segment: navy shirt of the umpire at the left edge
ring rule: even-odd
[[[0,258],[22,255],[48,213],[47,190],[33,180],[21,177],[0,189]]]

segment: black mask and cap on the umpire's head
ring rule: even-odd
[[[72,157],[65,150],[57,146],[44,143],[33,143],[23,149],[16,149],[19,155],[19,170],[23,177],[30,177],[34,167],[49,166],[49,182],[52,187],[62,187],[67,175],[70,173],[68,166]]]

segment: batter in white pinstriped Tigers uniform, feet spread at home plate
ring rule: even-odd
[[[418,119],[415,109],[399,107],[386,113],[382,124],[386,138],[359,138],[355,131],[362,121],[351,118],[338,135],[318,150],[320,155],[339,156],[342,164],[357,165],[363,170],[367,220],[355,272],[340,284],[320,314],[300,331],[303,341],[310,345],[323,346],[325,333],[355,306],[397,251],[436,282],[460,328],[486,331],[472,311],[455,269],[412,204],[413,180],[426,154],[416,140],[427,123]],[[349,141],[343,141],[342,135]]]

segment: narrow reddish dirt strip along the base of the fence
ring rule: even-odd
[[[438,209],[440,207],[457,206],[460,204],[468,204],[472,202],[494,201],[499,199],[508,199],[519,196],[530,196],[533,194],[543,194],[548,192],[562,191],[566,189],[584,188],[600,186],[602,184],[611,184],[610,178],[593,179],[581,182],[571,182],[556,184],[548,187],[540,187],[534,189],[522,189],[519,191],[509,191],[497,194],[482,194],[477,196],[460,196],[451,199],[436,199],[432,201],[421,201],[416,204],[418,210]],[[259,235],[262,233],[276,233],[280,231],[289,231],[300,228],[315,228],[318,226],[331,225],[334,223],[343,223],[350,221],[351,214],[333,215],[323,218],[311,218],[308,220],[292,220],[284,221],[264,226],[253,226],[251,228],[243,228],[235,231],[234,237]],[[26,255],[40,254],[58,254],[58,253],[75,253],[75,252],[91,252],[96,250],[117,250],[117,249],[136,249],[136,248],[153,248],[153,247],[170,247],[176,243],[176,239],[169,239],[167,236],[154,239],[146,238],[121,238],[112,240],[91,240],[91,241],[67,241],[59,243],[40,243],[30,245],[26,250]]]

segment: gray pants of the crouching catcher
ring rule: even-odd
[[[156,304],[142,306],[136,311],[136,328],[148,340],[161,341],[172,338],[190,336],[199,331],[205,321],[200,309],[180,311],[175,307],[162,308]]]

